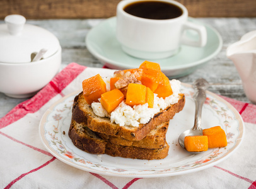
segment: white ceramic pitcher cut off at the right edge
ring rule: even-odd
[[[256,103],[256,30],[243,35],[226,50],[226,56],[233,61],[243,82],[247,98]]]

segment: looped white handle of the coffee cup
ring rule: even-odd
[[[199,39],[198,40],[194,40],[192,38],[189,38],[187,35],[185,35],[185,30],[194,30],[198,33],[199,35]],[[183,45],[189,45],[189,46],[193,46],[193,47],[204,47],[204,45],[206,45],[207,42],[207,32],[206,32],[206,28],[202,25],[197,25],[195,23],[192,23],[190,21],[187,21],[182,28],[182,39],[181,39],[181,43]]]

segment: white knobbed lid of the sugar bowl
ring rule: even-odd
[[[32,54],[47,50],[44,59],[59,50],[59,40],[50,31],[25,24],[26,18],[11,14],[0,25],[0,62],[25,63],[32,61]]]

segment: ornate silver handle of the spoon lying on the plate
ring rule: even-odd
[[[202,117],[202,106],[204,101],[206,101],[206,89],[209,87],[209,83],[205,79],[197,79],[193,83],[193,88],[195,89],[194,101],[195,101],[195,123],[193,130],[201,129],[201,117]]]

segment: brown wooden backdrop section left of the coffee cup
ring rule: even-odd
[[[119,0],[2,0],[0,18],[22,14],[28,19],[106,18],[115,15]]]

